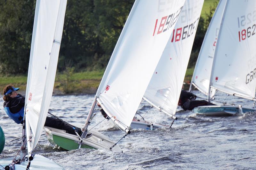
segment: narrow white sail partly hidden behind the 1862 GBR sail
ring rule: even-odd
[[[191,80],[191,83],[205,95],[207,95],[209,91],[213,56],[225,4],[226,0],[220,0],[214,15],[212,16],[212,20],[204,36],[204,41],[197,58],[196,67]],[[189,91],[191,91],[191,88]],[[212,92],[211,95],[213,96],[214,93],[215,91]]]

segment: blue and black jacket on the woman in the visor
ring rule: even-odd
[[[5,113],[14,120],[14,122],[20,124],[23,122],[24,117],[25,97],[18,94],[16,97],[9,101],[4,102]]]

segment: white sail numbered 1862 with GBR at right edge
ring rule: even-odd
[[[211,87],[255,99],[256,1],[228,1],[215,50]]]

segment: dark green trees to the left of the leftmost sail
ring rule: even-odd
[[[35,5],[34,0],[0,1],[0,72],[28,70]]]

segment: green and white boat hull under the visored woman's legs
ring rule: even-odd
[[[76,125],[76,127],[81,126]],[[68,151],[78,149],[80,140],[76,135],[68,134],[65,130],[50,127],[44,127],[44,130],[45,135],[51,144],[60,146],[61,148]],[[113,141],[108,139],[108,137],[104,136],[97,130],[92,129],[89,131],[89,133],[92,133],[92,136],[83,139],[81,148],[109,150],[109,148],[115,144]],[[113,147],[111,151],[123,152],[118,145]]]

